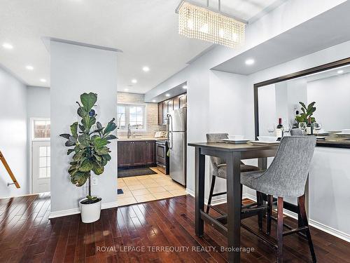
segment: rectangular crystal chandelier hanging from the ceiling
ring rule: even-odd
[[[207,7],[181,1],[176,9],[176,13],[179,13],[179,34],[190,39],[239,48],[244,44],[246,22],[221,13],[220,0],[218,1],[218,12],[209,9],[209,0],[207,0]]]

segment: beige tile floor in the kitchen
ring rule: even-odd
[[[118,189],[123,189],[124,192],[118,194],[118,205],[186,195],[186,189],[174,182],[169,175],[161,173],[157,168],[151,169],[157,174],[118,178]]]

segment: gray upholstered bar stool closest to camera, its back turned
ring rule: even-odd
[[[271,229],[273,196],[277,196],[277,245],[270,244],[277,250],[277,262],[283,262],[283,236],[298,232],[306,234],[312,261],[316,262],[304,205],[304,187],[315,146],[314,136],[283,137],[267,170],[241,173],[241,184],[268,195],[267,234]],[[283,198],[287,196],[297,198],[302,222],[301,227],[283,232]]]

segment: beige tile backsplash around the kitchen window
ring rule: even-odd
[[[144,104],[146,105],[146,131],[139,130],[135,135],[153,137],[158,130],[166,130],[165,126],[158,125],[158,103],[145,102],[144,94],[118,92],[118,103]],[[134,131],[132,131],[134,133]],[[125,130],[118,130],[120,137],[126,136]]]

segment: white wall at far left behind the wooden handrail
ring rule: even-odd
[[[0,163],[0,197],[19,196],[28,192],[27,88],[1,68],[0,97],[0,151],[21,187],[7,186],[12,181]]]

